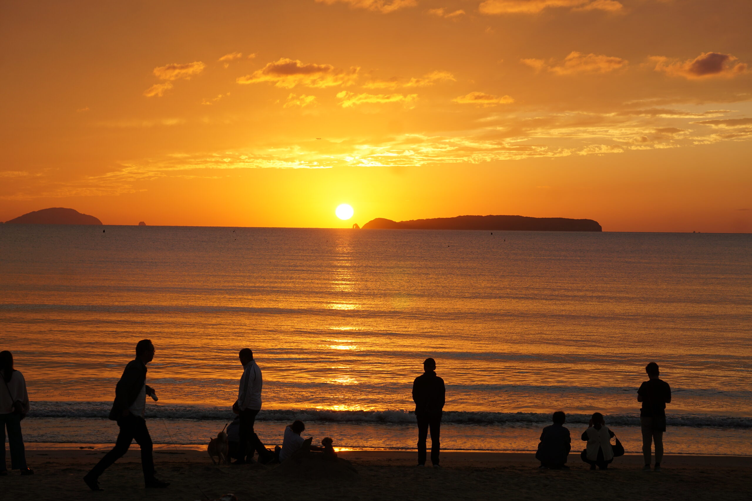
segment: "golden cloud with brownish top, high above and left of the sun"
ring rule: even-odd
[[[236,81],[241,84],[269,82],[283,89],[292,89],[298,85],[323,89],[353,85],[358,79],[359,70],[357,66],[341,70],[332,65],[304,64],[298,59],[283,57],[268,63],[253,74],[238,77]]]

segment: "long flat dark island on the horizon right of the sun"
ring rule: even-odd
[[[603,231],[593,219],[535,218],[527,216],[456,216],[453,218],[392,221],[376,218],[364,230],[498,230],[498,231]]]

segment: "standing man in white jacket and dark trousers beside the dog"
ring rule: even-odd
[[[261,410],[261,369],[253,360],[253,352],[250,349],[241,349],[240,363],[243,364],[243,376],[238,388],[238,400],[232,406],[235,414],[240,415],[240,444],[238,445],[238,457],[232,464],[245,464],[253,460],[253,451],[259,453],[259,462],[268,463],[274,459],[274,453],[267,451],[259,440],[259,436],[253,431],[253,423],[256,415]],[[250,446],[250,451],[248,450]],[[248,460],[246,460],[246,456]]]

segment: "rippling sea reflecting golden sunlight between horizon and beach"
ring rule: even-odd
[[[305,417],[409,447],[429,356],[455,448],[524,448],[518,430],[554,410],[636,433],[656,361],[675,392],[669,449],[720,433],[748,453],[750,279],[750,234],[0,225],[0,348],[29,385],[27,440],[110,440],[99,418],[148,337],[149,413],[174,442],[230,416],[250,347],[269,433]]]

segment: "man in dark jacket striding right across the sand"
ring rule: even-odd
[[[115,386],[115,400],[112,403],[110,419],[117,421],[120,433],[114,448],[102,457],[102,460],[83,477],[91,490],[104,490],[99,487],[99,475],[108,466],[123,457],[131,442],[135,439],[141,447],[141,469],[144,470],[146,487],[167,487],[170,483],[158,480],[154,476],[154,458],[152,442],[144,419],[146,396],[156,400],[156,392],[146,384],[146,364],[154,360],[154,345],[151,340],[141,340],[136,344],[136,358],[129,361],[123,376]]]

